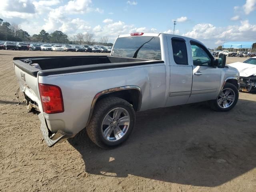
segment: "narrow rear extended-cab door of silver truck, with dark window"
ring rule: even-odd
[[[188,102],[192,86],[192,64],[186,38],[167,36],[170,60],[170,88],[166,106]]]

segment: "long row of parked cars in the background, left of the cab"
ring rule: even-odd
[[[56,45],[56,44],[28,44],[24,42],[0,42],[0,50],[30,50],[30,51],[72,51],[72,52],[98,52],[110,53],[111,46],[103,45]]]

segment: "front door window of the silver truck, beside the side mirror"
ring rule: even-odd
[[[192,58],[194,65],[211,66],[211,58],[205,51],[205,48],[195,42],[191,42]]]

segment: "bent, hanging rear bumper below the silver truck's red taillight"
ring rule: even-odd
[[[52,134],[47,127],[44,115],[42,113],[38,113],[38,118],[41,122],[41,132],[43,134],[43,138],[48,145],[48,147],[54,146],[56,143],[61,143],[67,138],[72,137],[72,134],[66,133],[62,130],[58,130],[55,134]]]

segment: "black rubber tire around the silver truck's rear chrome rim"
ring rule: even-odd
[[[124,108],[130,115],[130,125],[125,133],[125,135],[117,141],[108,141],[104,139],[101,131],[101,125],[104,120],[104,117],[108,112],[114,108],[122,107]],[[86,127],[87,134],[89,138],[101,148],[108,149],[114,148],[124,141],[127,140],[128,136],[131,134],[135,125],[135,112],[132,108],[132,105],[118,97],[108,97],[103,98],[102,100],[98,101],[95,105],[94,112],[92,114],[92,118]]]

